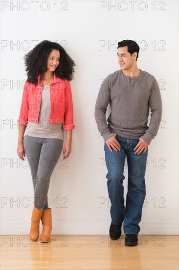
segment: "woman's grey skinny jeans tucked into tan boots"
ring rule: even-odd
[[[39,210],[49,209],[47,194],[50,177],[62,152],[63,140],[25,135],[23,147],[31,170],[34,205]]]

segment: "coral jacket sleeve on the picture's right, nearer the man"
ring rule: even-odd
[[[75,125],[73,124],[73,102],[71,94],[71,86],[69,81],[66,82],[65,89],[65,114],[64,114],[64,130],[73,130]]]

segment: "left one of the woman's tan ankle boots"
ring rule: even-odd
[[[44,209],[37,209],[37,207],[33,208],[32,218],[31,218],[31,228],[30,228],[30,240],[37,241],[39,238],[39,224],[41,221],[41,217]]]

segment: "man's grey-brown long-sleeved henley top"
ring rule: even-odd
[[[107,123],[109,103],[112,111]],[[152,113],[148,126],[149,107]],[[132,79],[122,70],[115,71],[101,85],[94,114],[104,141],[117,134],[132,139],[142,137],[150,144],[157,135],[162,114],[157,80],[143,70]]]

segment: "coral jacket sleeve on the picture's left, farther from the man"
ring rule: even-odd
[[[27,125],[28,120],[28,82],[25,81],[24,87],[23,87],[23,94],[22,94],[22,103],[21,103],[21,110],[20,115],[18,119],[18,125]]]

